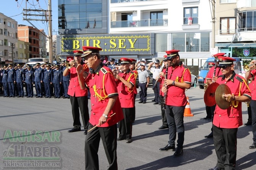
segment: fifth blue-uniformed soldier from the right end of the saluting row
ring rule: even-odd
[[[25,73],[25,83],[27,83],[28,88],[28,96],[27,97],[33,97],[33,82],[34,82],[34,71],[31,69],[31,65],[28,65],[27,69],[24,70]]]

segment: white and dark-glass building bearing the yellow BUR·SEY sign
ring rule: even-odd
[[[154,61],[178,49],[181,60],[197,75],[211,56],[209,1],[61,0],[58,8],[58,55],[63,57],[84,45],[100,47],[102,56],[117,60]]]

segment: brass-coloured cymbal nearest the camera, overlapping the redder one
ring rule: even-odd
[[[220,84],[215,92],[215,100],[219,108],[221,109],[227,109],[231,102],[228,102],[223,95],[225,94],[231,94],[230,88],[226,84]]]

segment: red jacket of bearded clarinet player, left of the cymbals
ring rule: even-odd
[[[168,67],[167,79],[191,84],[191,73],[188,67],[180,63],[175,68]],[[173,85],[168,86],[166,105],[185,106],[186,103],[185,89]]]

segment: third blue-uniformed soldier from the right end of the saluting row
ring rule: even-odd
[[[52,96],[52,91],[50,88],[50,83],[52,81],[52,70],[51,70],[51,65],[47,64],[46,67],[44,68],[44,89],[45,89],[45,98],[51,98]]]

